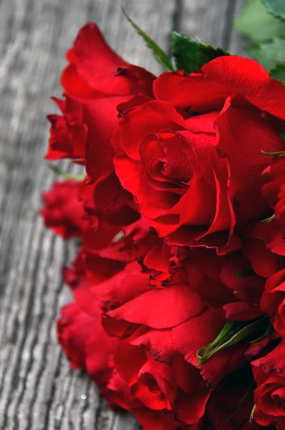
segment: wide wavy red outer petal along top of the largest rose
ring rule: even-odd
[[[285,88],[269,78],[264,68],[251,59],[220,56],[202,66],[200,72],[184,75],[166,72],[155,81],[157,99],[195,112],[222,109],[224,100],[240,94],[259,109],[285,120]]]

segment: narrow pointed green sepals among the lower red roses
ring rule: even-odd
[[[257,319],[255,321],[227,321],[224,324],[222,331],[211,344],[203,346],[197,352],[199,362],[197,366],[201,366],[204,361],[209,359],[210,356],[217,351],[228,348],[229,346],[237,344],[239,341],[251,336],[254,332],[259,331],[264,326],[264,319]]]

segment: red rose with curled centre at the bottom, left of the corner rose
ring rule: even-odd
[[[167,361],[157,360],[156,349],[167,351]],[[173,411],[186,424],[195,424],[204,414],[211,389],[199,370],[172,348],[169,332],[148,332],[142,326],[120,342],[114,359],[133,395],[148,408]]]

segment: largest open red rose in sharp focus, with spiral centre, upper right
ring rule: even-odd
[[[121,184],[171,244],[239,247],[234,231],[270,210],[261,149],[284,149],[284,86],[256,61],[222,56],[188,76],[162,74],[154,93],[115,130]]]

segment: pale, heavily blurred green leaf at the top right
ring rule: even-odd
[[[254,42],[285,34],[285,22],[269,14],[261,0],[247,1],[234,26]]]

